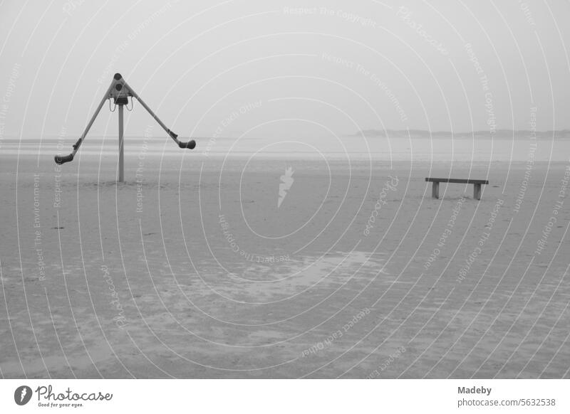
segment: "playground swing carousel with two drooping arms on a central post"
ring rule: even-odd
[[[128,85],[128,83],[125,82],[125,80],[123,79],[123,76],[121,76],[120,73],[115,73],[115,76],[113,76],[113,81],[109,85],[109,88],[108,88],[107,92],[105,92],[105,95],[103,95],[103,99],[101,99],[101,102],[99,103],[99,106],[95,110],[93,117],[91,117],[91,120],[87,124],[85,131],[83,131],[83,134],[81,134],[81,137],[73,145],[73,152],[71,152],[71,154],[65,155],[65,156],[56,155],[55,156],[56,164],[61,165],[61,164],[65,164],[66,162],[73,161],[73,157],[77,154],[79,147],[81,147],[81,144],[83,144],[83,141],[85,140],[85,137],[86,137],[87,133],[89,132],[91,125],[93,125],[93,122],[95,122],[95,118],[97,117],[97,115],[99,115],[99,112],[100,112],[101,108],[103,107],[103,105],[105,104],[105,101],[112,99],[113,102],[115,102],[115,105],[118,105],[118,107],[119,107],[119,169],[118,169],[117,181],[119,181],[119,182],[125,181],[125,171],[124,171],[124,161],[123,161],[123,107],[125,105],[128,105],[128,98],[129,97],[130,97],[131,105],[133,104],[133,98],[134,97],[137,98],[138,102],[140,102],[140,105],[142,105],[142,107],[144,107],[145,110],[147,110],[147,112],[150,114],[150,116],[152,116],[156,120],[156,122],[158,122],[158,124],[162,127],[162,129],[164,129],[166,131],[166,133],[170,136],[170,138],[172,138],[174,140],[174,142],[176,142],[176,144],[178,144],[178,147],[187,148],[187,149],[194,149],[196,147],[196,142],[194,139],[191,139],[189,142],[181,142],[180,139],[178,139],[178,135],[175,134],[174,132],[172,132],[155,115],[155,113],[152,112],[150,107],[148,107],[148,105],[145,104],[145,101],[140,99],[140,96],[137,94],[137,92],[135,92],[133,90],[133,88],[130,87]],[[109,105],[110,105],[110,102],[109,102]],[[131,107],[131,110],[132,110],[132,107]],[[112,110],[111,112],[114,112],[114,110]]]

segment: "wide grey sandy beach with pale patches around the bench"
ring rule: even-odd
[[[570,377],[569,163],[115,162],[0,155],[1,376]]]

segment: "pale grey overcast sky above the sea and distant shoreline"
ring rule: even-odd
[[[0,134],[81,134],[115,72],[185,136],[570,128],[569,16],[569,1],[2,1]],[[153,124],[138,102],[127,122]]]

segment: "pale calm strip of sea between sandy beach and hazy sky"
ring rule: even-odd
[[[49,157],[69,154],[77,138],[1,139],[0,154]],[[333,137],[303,139],[197,138],[197,147],[180,149],[168,137],[125,137],[125,156],[258,157],[298,159],[383,159],[392,161],[567,161],[570,141],[559,139],[425,139]],[[82,158],[116,156],[118,138],[88,137]]]

